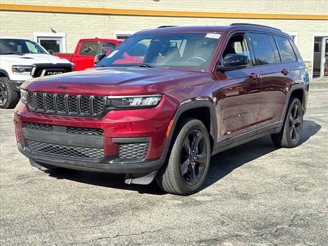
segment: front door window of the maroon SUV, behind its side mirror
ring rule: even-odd
[[[228,40],[226,48],[224,48],[222,57],[220,58],[220,64],[222,65],[223,58],[229,54],[242,54],[247,55],[248,60],[251,60],[250,51],[247,46],[247,40],[245,34],[235,34]]]

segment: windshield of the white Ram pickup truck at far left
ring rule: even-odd
[[[26,39],[0,39],[0,55],[5,54],[47,54],[37,43]]]

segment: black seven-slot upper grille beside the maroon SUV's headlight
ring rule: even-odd
[[[105,112],[105,96],[28,92],[27,103],[31,111],[49,114],[101,116]]]

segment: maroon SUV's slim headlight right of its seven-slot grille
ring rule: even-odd
[[[147,108],[157,106],[162,95],[108,96],[107,98],[110,100],[110,107],[113,108]]]

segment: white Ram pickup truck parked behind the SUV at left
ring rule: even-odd
[[[29,38],[0,37],[0,108],[15,107],[26,80],[71,72],[73,66]]]

